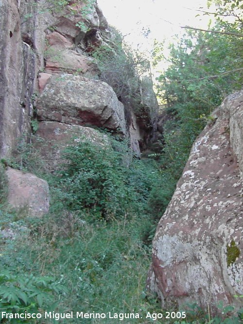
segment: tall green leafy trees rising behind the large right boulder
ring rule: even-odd
[[[221,6],[215,12],[217,23],[210,29],[239,33],[240,16],[233,23],[225,18],[235,12],[236,7],[238,10],[242,1],[219,2]],[[162,54],[159,44],[155,43],[155,65],[157,55]],[[163,212],[169,203],[193,141],[206,122],[213,122],[211,112],[227,94],[241,88],[242,39],[227,34],[189,31],[177,45],[170,46],[168,63],[169,68],[157,79],[158,96],[165,103],[163,114],[167,115],[167,121],[163,125],[160,156],[162,177],[166,181],[151,193],[150,205],[156,206],[155,213],[156,210]]]

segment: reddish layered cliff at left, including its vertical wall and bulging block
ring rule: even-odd
[[[158,106],[152,85],[140,97],[146,122],[138,122],[135,107],[99,81],[101,72],[88,53],[112,42],[113,34],[96,1],[58,8],[52,0],[3,0],[0,29],[1,157],[11,155],[20,139],[28,141],[36,113],[40,129],[46,121],[106,127],[130,138],[138,154],[153,138]],[[132,118],[126,118],[127,109]]]

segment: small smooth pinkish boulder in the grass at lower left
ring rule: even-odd
[[[40,217],[49,210],[49,186],[32,173],[8,168],[8,203],[28,216]]]

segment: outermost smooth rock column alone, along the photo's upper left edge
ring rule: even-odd
[[[17,138],[28,130],[30,113],[30,107],[26,107],[22,96],[24,74],[29,72],[29,61],[26,62],[24,71],[16,1],[0,2],[0,30],[0,156],[6,156],[11,154]],[[27,52],[26,47],[26,57]]]

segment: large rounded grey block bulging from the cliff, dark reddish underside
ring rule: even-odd
[[[126,133],[124,107],[104,82],[78,75],[52,76],[37,104],[40,120],[95,125]]]

